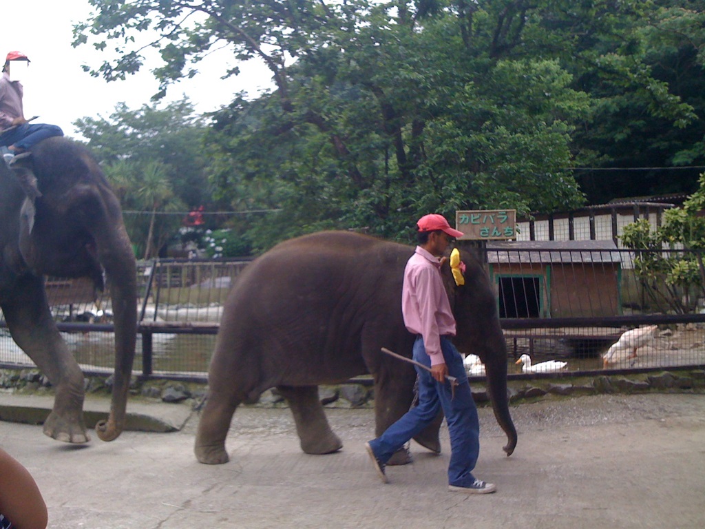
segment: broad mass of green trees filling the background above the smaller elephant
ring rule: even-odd
[[[274,90],[238,95],[204,142],[202,123],[178,121],[185,102],[171,109],[176,123],[156,107],[121,109],[115,128],[84,122],[87,137],[106,133],[110,163],[141,157],[142,142],[147,156],[166,152],[161,135],[173,140],[183,163],[158,158],[188,205],[214,193],[235,209],[271,210],[247,226],[255,252],[320,229],[406,240],[427,212],[580,207],[584,189],[567,168],[583,163],[705,163],[704,31],[693,2],[90,3],[75,45],[115,50],[92,75],[134,73],[145,46],[163,59],[157,97],[216,49],[269,67]],[[159,38],[145,43],[148,30]],[[142,124],[152,119],[161,124]],[[193,145],[204,145],[206,168]]]

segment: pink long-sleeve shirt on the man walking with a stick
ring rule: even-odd
[[[423,336],[431,365],[445,363],[441,336],[455,336],[455,317],[443,288],[441,263],[420,246],[404,269],[401,311],[409,332]]]

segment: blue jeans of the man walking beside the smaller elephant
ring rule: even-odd
[[[389,458],[416,434],[436,418],[439,408],[443,408],[450,433],[450,463],[448,464],[448,485],[469,487],[475,478],[475,468],[479,456],[479,420],[477,408],[472,400],[470,384],[467,382],[462,357],[453,343],[441,336],[443,358],[448,366],[448,375],[458,379],[455,397],[451,394],[450,383],[441,384],[431,377],[431,373],[415,366],[419,376],[419,403],[411,408],[397,422],[387,428],[384,434],[369,442],[374,455],[381,463]],[[414,343],[414,360],[431,367],[431,358],[426,354],[421,336]]]

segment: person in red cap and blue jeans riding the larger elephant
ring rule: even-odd
[[[19,80],[11,77],[10,64],[16,61],[30,59],[21,51],[10,51],[3,66],[0,77],[0,146],[7,147],[4,154],[6,162],[10,162],[18,154],[27,152],[38,142],[52,136],[63,136],[63,130],[56,125],[47,123],[30,123],[25,118],[23,110],[23,86]]]

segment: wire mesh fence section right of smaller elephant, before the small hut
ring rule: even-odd
[[[529,372],[558,370],[541,367],[551,360],[580,373],[705,365],[701,253],[525,241],[485,255],[508,351],[529,355]]]

